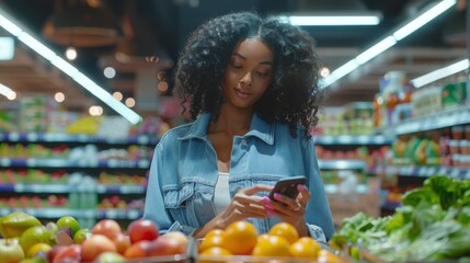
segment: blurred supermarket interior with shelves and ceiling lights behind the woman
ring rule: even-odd
[[[180,48],[238,10],[377,19],[300,25],[324,64],[312,133],[336,224],[394,211],[429,175],[469,179],[467,2],[0,0],[0,214],[141,216],[152,149],[184,122],[171,95]]]

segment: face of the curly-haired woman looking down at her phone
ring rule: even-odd
[[[231,54],[225,75],[226,103],[252,108],[270,85],[273,64],[273,53],[259,38],[240,42]]]

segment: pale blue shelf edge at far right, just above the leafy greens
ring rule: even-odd
[[[455,179],[470,179],[470,169],[452,167],[385,165],[371,169],[370,172],[421,178],[428,178],[435,174],[446,174]]]

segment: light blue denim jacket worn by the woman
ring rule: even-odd
[[[216,216],[213,198],[218,169],[207,136],[209,121],[209,114],[202,114],[194,123],[170,129],[154,149],[144,218],[156,221],[161,232],[191,235]],[[302,129],[294,138],[288,125],[268,124],[254,114],[250,130],[233,137],[229,172],[231,197],[239,188],[274,185],[282,178],[305,175],[311,194],[305,215],[310,236],[324,241],[333,235],[313,140],[305,140]],[[280,221],[275,216],[248,220],[259,233]]]

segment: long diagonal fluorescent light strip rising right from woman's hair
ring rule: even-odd
[[[415,32],[417,28],[423,26],[424,24],[428,23],[433,19],[437,18],[439,14],[447,11],[449,8],[456,4],[456,0],[443,0],[435,5],[431,7],[426,11],[424,11],[422,14],[420,14],[417,18],[411,20],[410,22],[406,22],[403,26],[401,26],[399,30],[397,30],[393,34],[386,36],[381,41],[379,41],[377,44],[368,48],[367,50],[359,54],[355,59],[347,61],[345,65],[341,66],[333,72],[331,72],[330,76],[323,79],[321,82],[321,88],[328,88],[332,83],[336,82],[344,76],[351,73],[354,69],[356,69],[358,66],[364,65],[365,62],[369,61],[370,59],[377,57],[381,53],[386,52],[393,45],[396,45],[399,41],[403,39],[411,33]],[[357,64],[355,68],[353,68],[351,65]],[[344,68],[348,70],[344,70]],[[339,71],[339,72],[337,72]],[[345,73],[346,72],[346,73]]]

